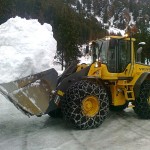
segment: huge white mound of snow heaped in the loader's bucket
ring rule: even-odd
[[[56,45],[51,25],[9,19],[0,26],[0,83],[52,68]]]

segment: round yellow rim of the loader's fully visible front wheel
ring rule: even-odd
[[[82,113],[87,117],[95,116],[100,109],[100,102],[95,96],[87,96],[82,101]]]

